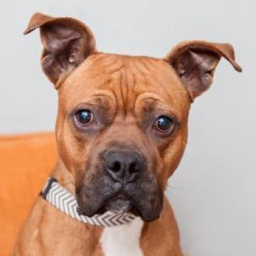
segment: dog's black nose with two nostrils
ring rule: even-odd
[[[135,151],[109,151],[105,168],[116,182],[133,182],[145,170],[145,161]]]

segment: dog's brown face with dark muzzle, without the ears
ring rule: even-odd
[[[87,216],[159,215],[187,137],[189,100],[164,60],[94,54],[60,86],[58,148]]]

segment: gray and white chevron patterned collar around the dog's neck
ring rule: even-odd
[[[116,214],[113,212],[105,212],[102,215],[95,214],[91,218],[79,215],[77,213],[78,204],[75,196],[60,186],[56,178],[48,179],[41,195],[46,201],[70,217],[94,226],[114,227],[125,225],[137,218],[131,213]]]

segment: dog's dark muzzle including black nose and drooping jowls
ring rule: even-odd
[[[163,193],[143,155],[135,150],[109,149],[103,153],[101,168],[90,168],[82,186],[76,189],[82,214],[131,212],[145,221],[159,216]]]

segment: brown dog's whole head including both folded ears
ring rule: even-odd
[[[188,135],[188,112],[212,83],[229,44],[190,41],[166,58],[97,52],[92,32],[72,18],[36,13],[42,66],[59,93],[60,161],[74,178],[80,212],[130,211],[153,220]]]

